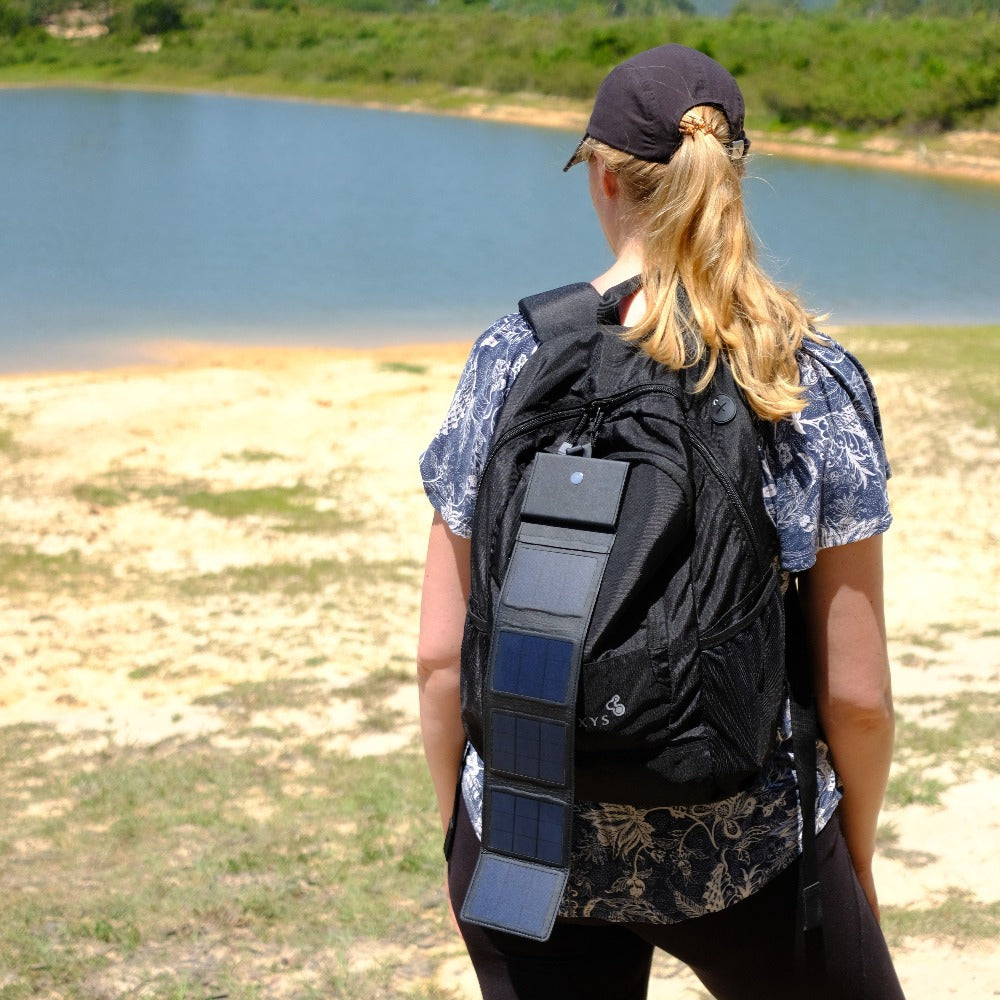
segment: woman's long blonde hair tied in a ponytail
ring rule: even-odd
[[[780,420],[801,410],[795,352],[811,337],[809,316],[757,263],[743,208],[742,159],[731,158],[726,116],[709,106],[681,119],[669,163],[652,163],[596,139],[618,180],[643,258],[646,313],[623,336],[670,368],[706,358],[702,389],[723,352],[753,411]]]

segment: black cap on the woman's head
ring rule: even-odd
[[[680,147],[680,121],[708,104],[729,122],[730,155],[750,148],[743,131],[743,95],[732,74],[684,45],[660,45],[617,65],[597,91],[587,132],[563,170],[580,159],[585,139],[597,139],[640,160],[668,163]]]

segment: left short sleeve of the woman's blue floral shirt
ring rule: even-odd
[[[538,342],[518,314],[503,316],[473,345],[441,429],[420,456],[424,491],[445,524],[472,534],[479,478],[497,417]]]

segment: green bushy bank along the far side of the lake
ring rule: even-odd
[[[724,17],[691,0],[76,0],[105,33],[54,37],[69,2],[0,0],[0,79],[583,101],[673,41],[733,72],[757,128],[1000,131],[1000,0],[739,0]]]

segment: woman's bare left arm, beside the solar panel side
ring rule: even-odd
[[[469,600],[467,538],[452,532],[434,515],[420,604],[417,673],[420,729],[434,792],[446,829],[455,802],[455,786],[465,735],[459,700],[462,631]]]

